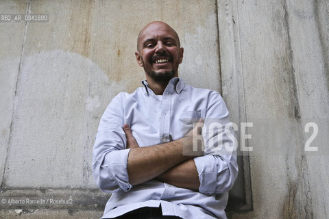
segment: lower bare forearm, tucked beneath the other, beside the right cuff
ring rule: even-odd
[[[169,183],[180,188],[199,190],[200,181],[193,159],[188,159],[156,177],[159,181]]]

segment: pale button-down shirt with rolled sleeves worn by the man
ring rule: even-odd
[[[228,109],[214,90],[193,88],[175,77],[162,99],[147,87],[132,94],[121,92],[112,99],[101,121],[93,149],[93,173],[103,192],[111,192],[103,218],[114,218],[141,207],[162,208],[165,216],[181,218],[226,218],[228,191],[238,174],[236,145]],[[155,179],[132,186],[127,174],[126,138],[128,124],[139,146],[182,138],[193,122],[204,118],[204,156],[195,157],[199,192],[178,188]],[[226,127],[226,128],[225,128]],[[225,146],[224,146],[225,145]],[[145,170],[147,171],[147,170]]]

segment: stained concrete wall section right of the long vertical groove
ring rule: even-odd
[[[253,211],[232,218],[328,218],[328,1],[218,2],[223,96],[254,123]]]

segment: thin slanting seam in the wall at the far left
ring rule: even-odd
[[[30,14],[30,12],[31,12],[31,1],[28,1],[27,2],[26,14]],[[7,168],[10,140],[12,139],[12,121],[14,120],[14,112],[16,110],[17,86],[19,84],[19,77],[21,75],[22,60],[23,60],[23,55],[24,55],[24,45],[25,45],[25,41],[26,41],[27,27],[28,27],[28,22],[25,21],[24,36],[23,36],[22,49],[21,49],[21,57],[20,57],[20,60],[19,60],[19,73],[17,74],[16,85],[15,85],[14,107],[13,107],[13,110],[12,110],[12,120],[10,121],[10,129],[9,129],[10,134],[9,134],[9,139],[8,139],[8,144],[7,144],[7,151],[6,151],[6,154],[5,154],[5,164],[3,166],[3,178],[2,178],[2,182],[1,182],[1,190],[3,189],[3,186],[5,184],[5,170]]]

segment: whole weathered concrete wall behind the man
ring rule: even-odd
[[[0,23],[0,198],[74,202],[48,210],[0,205],[1,217],[101,216],[108,196],[90,169],[95,132],[112,97],[141,86],[136,36],[154,20],[180,35],[180,76],[221,92],[235,123],[254,124],[241,171],[246,190],[251,177],[252,211],[230,216],[329,217],[328,1],[1,1],[0,8],[49,16]],[[304,150],[309,122],[319,129],[310,144],[317,152]]]

